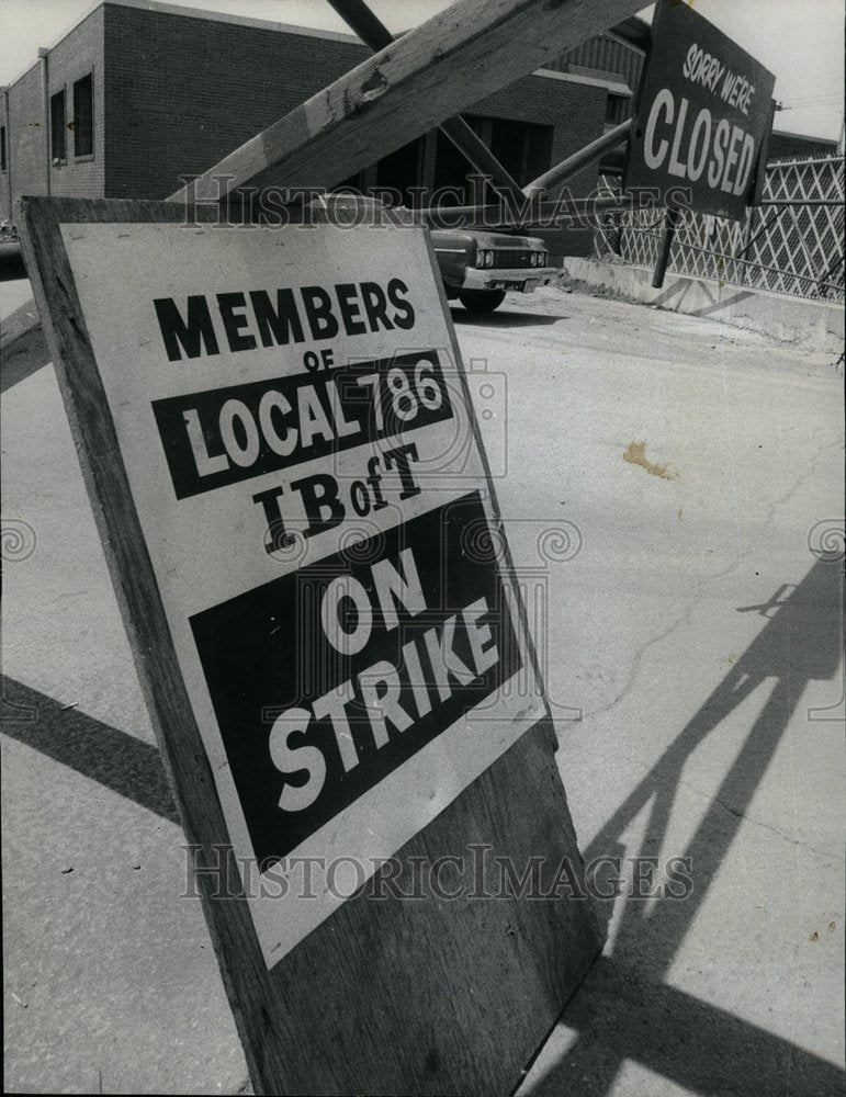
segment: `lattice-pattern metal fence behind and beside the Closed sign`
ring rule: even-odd
[[[601,177],[609,193],[619,182]],[[763,203],[744,220],[687,211],[678,222],[668,270],[799,297],[844,301],[844,158],[768,165]],[[609,215],[597,228],[595,253],[654,268],[664,211]]]

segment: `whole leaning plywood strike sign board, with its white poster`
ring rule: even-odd
[[[508,1092],[598,939],[428,238],[210,216],[20,224],[253,1083]]]

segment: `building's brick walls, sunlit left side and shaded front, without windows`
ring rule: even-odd
[[[67,162],[49,167],[50,192],[166,197],[179,188],[180,176],[205,171],[369,55],[360,43],[335,35],[106,0],[49,54],[49,94],[65,88],[69,125]],[[88,72],[94,86],[94,154],[77,158],[74,81]],[[529,76],[467,113],[552,127],[556,163],[601,134],[605,109],[601,87]],[[19,194],[47,191],[44,118],[36,66],[10,89],[12,186]],[[435,133],[425,136],[420,178],[409,183],[433,186],[437,145]],[[374,169],[363,172],[361,182],[374,183]],[[595,184],[593,167],[569,188],[587,194]],[[587,255],[593,246],[590,230],[539,235],[560,256]]]

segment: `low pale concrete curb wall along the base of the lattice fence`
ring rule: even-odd
[[[762,293],[678,274],[667,274],[663,289],[653,290],[651,271],[596,259],[565,258],[563,269],[569,278],[642,304],[721,320],[802,350],[843,353],[843,305]]]

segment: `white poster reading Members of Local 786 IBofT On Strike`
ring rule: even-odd
[[[429,251],[61,233],[270,968],[545,714]]]

